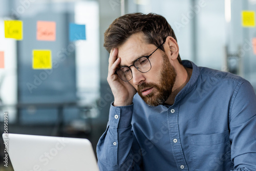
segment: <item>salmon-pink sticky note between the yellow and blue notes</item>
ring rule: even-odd
[[[37,21],[37,40],[55,41],[56,40],[56,23]]]

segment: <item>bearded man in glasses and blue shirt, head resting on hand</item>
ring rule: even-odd
[[[236,75],[181,61],[157,14],[127,14],[104,34],[114,95],[100,170],[256,170],[256,96]]]

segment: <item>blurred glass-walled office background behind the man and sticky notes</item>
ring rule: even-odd
[[[1,0],[1,134],[8,112],[9,133],[88,138],[96,150],[114,100],[103,33],[126,13],[163,15],[182,59],[240,75],[256,90],[256,30],[243,27],[241,15],[255,10],[255,0]],[[12,19],[23,21],[23,40],[5,38],[4,20]],[[38,20],[56,22],[55,41],[36,40]],[[86,25],[86,40],[69,40],[70,23]],[[51,50],[55,67],[32,69],[34,49]],[[0,147],[2,158],[2,138]]]

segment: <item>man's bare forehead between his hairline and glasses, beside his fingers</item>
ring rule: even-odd
[[[117,56],[121,58],[120,66],[132,65],[131,62],[145,55],[150,55],[156,46],[145,41],[143,33],[131,35],[123,45],[118,47]]]

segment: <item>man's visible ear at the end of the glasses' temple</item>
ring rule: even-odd
[[[179,55],[179,46],[177,44],[177,41],[171,37],[166,37],[165,43],[164,43],[164,51],[169,59],[175,60],[177,59]]]

